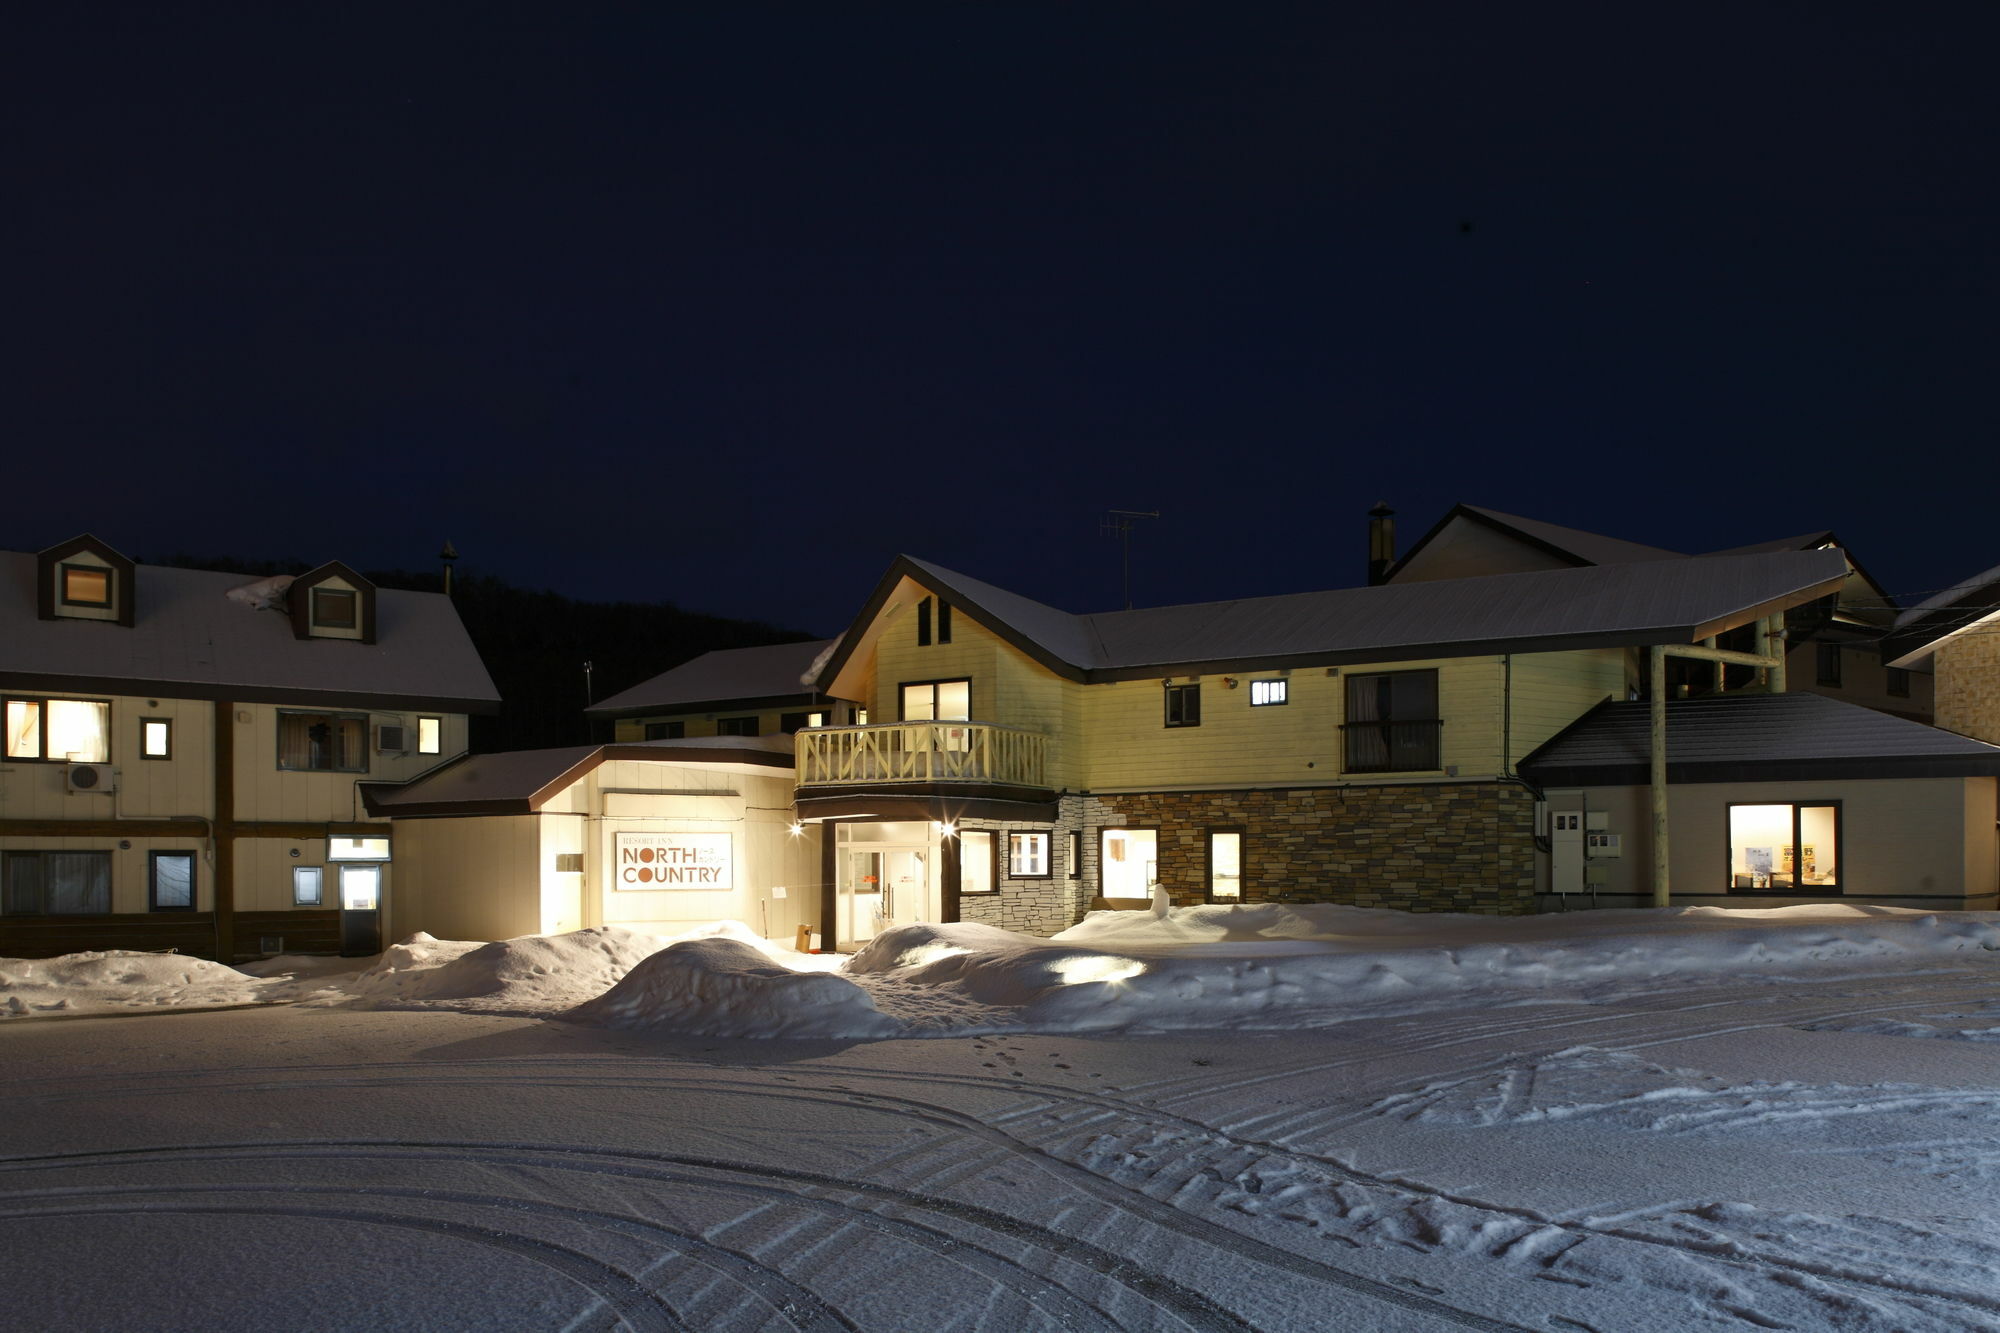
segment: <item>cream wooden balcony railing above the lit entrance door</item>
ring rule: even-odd
[[[798,733],[798,785],[848,783],[1048,787],[1048,737],[994,723],[884,723]]]

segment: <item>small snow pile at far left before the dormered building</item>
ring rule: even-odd
[[[0,1019],[256,1005],[280,985],[178,953],[106,949],[0,959]]]

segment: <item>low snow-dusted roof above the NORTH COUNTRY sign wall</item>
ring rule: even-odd
[[[468,755],[412,783],[360,783],[376,819],[388,815],[532,815],[606,761],[700,765],[742,771],[792,769],[792,737],[698,737],[566,745],[550,751]]]

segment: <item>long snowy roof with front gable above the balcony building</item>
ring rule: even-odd
[[[1634,560],[1528,574],[1290,592],[1068,614],[938,564],[898,556],[820,675],[840,677],[896,598],[936,592],[1072,681],[1386,662],[1486,652],[1694,642],[1834,592],[1838,550]]]

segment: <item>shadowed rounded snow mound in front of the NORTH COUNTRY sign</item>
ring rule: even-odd
[[[700,1037],[902,1035],[846,977],[796,973],[754,945],[696,939],[644,959],[616,987],[562,1015],[596,1027],[656,1029]]]

